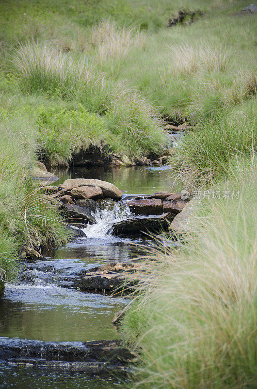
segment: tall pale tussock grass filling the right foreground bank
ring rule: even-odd
[[[211,189],[220,198],[194,200],[186,245],[160,246],[145,262],[122,322],[139,347],[133,388],[257,386],[256,157],[231,162]]]

